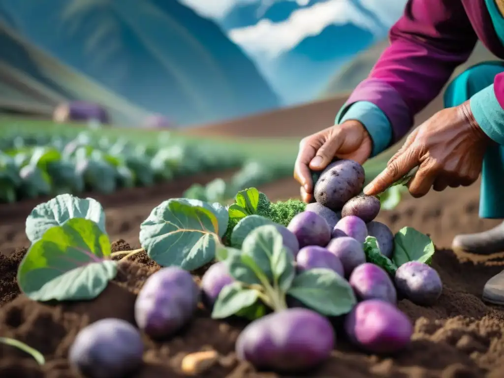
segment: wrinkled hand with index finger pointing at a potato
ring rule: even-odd
[[[481,172],[483,155],[490,138],[474,119],[469,101],[443,109],[417,127],[401,149],[365,188],[364,194],[376,195],[419,167],[408,183],[415,198],[437,192],[447,186],[468,186]]]

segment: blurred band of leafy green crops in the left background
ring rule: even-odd
[[[92,138],[86,132],[76,136],[4,137],[0,139],[0,202],[64,193],[111,194],[121,188],[152,186],[180,176],[240,166],[232,181],[236,191],[285,172],[247,161],[210,143],[195,148],[173,140],[169,134],[160,137],[154,146],[125,139]],[[216,201],[225,197],[218,183],[208,193]]]

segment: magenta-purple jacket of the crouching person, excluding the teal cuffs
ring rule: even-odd
[[[347,104],[374,103],[392,123],[396,142],[467,60],[478,39],[504,58],[485,0],[409,0],[390,30],[390,46]],[[495,76],[494,91],[504,108],[504,73]]]

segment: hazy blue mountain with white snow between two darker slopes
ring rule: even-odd
[[[285,104],[308,101],[356,53],[383,40],[406,0],[179,0],[257,64]]]

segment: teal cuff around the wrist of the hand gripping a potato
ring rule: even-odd
[[[357,101],[343,106],[336,116],[336,124],[355,119],[366,128],[373,142],[371,156],[385,151],[392,141],[392,125],[379,107],[369,101]]]

